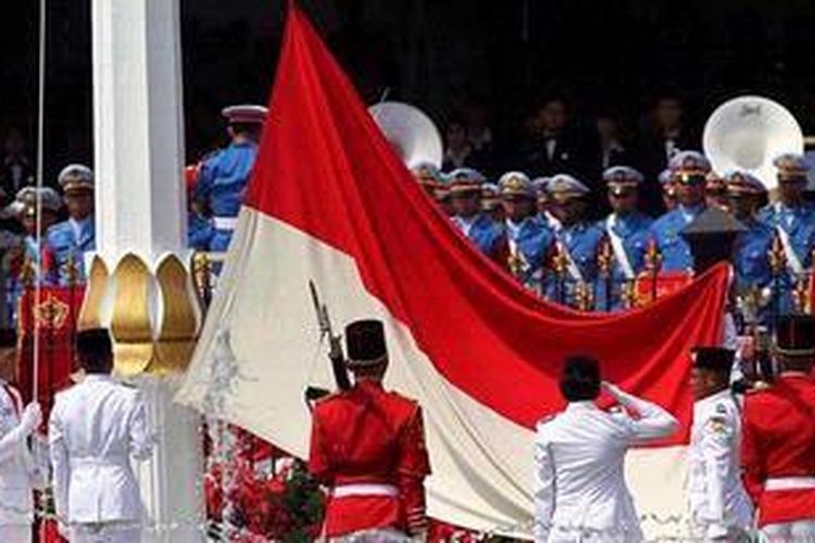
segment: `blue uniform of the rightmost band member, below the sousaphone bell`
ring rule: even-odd
[[[773,235],[781,228],[789,238],[790,247],[798,256],[803,270],[812,268],[812,251],[815,249],[815,207],[810,204],[787,207],[780,203],[768,205],[758,213],[762,220],[773,229]],[[800,279],[787,265],[786,273],[779,278],[779,288],[783,295],[779,300],[779,313],[791,313],[794,308],[792,290]]]

